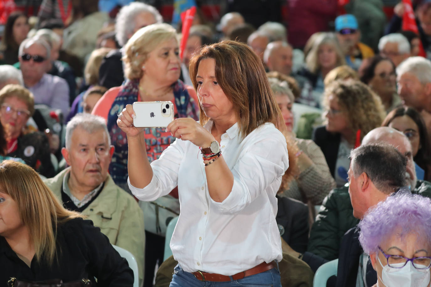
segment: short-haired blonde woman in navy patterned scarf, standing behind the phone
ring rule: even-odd
[[[127,80],[122,86],[109,89],[94,106],[92,114],[107,119],[112,145],[115,147],[109,174],[121,188],[127,184],[127,136],[117,127],[117,117],[122,109],[134,102],[170,101],[175,117],[199,119],[197,96],[193,87],[184,85],[180,77],[180,58],[175,29],[168,24],[152,24],[139,29],[123,47],[123,61]],[[196,98],[196,102],[194,101]],[[160,157],[175,137],[165,129],[147,128],[145,135],[147,158],[151,162]],[[174,186],[175,187],[175,186]],[[157,207],[154,204],[158,204]],[[159,206],[179,210],[178,194],[141,202],[145,220],[145,276],[144,286],[152,284],[157,260],[163,259],[167,219],[175,216]],[[169,221],[168,221],[169,222]]]

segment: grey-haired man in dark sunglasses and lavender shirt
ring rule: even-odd
[[[50,46],[41,38],[28,38],[19,46],[19,65],[24,85],[34,95],[35,104],[60,109],[66,118],[69,113],[69,86],[66,80],[47,74]]]

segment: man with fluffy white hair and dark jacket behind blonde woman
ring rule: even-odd
[[[123,6],[115,19],[115,37],[120,46],[124,46],[139,29],[162,23],[163,17],[151,5],[132,2]],[[124,81],[121,49],[112,50],[103,59],[99,69],[99,85],[110,89],[121,86]]]

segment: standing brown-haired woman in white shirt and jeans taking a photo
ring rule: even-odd
[[[179,264],[171,286],[206,282],[281,286],[281,240],[275,194],[288,167],[284,127],[258,56],[223,41],[191,60],[200,123],[172,121],[177,140],[148,163],[131,105],[119,115],[127,134],[129,188],[145,201],[178,185],[181,213],[171,240]],[[230,282],[230,285],[229,285]]]

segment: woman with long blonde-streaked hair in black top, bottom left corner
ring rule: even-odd
[[[0,287],[11,277],[133,285],[127,261],[100,229],[64,209],[31,167],[12,160],[0,164],[0,266]]]

